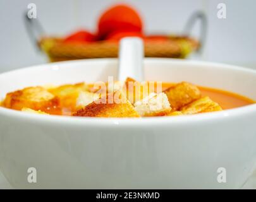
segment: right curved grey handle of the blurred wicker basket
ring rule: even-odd
[[[189,36],[192,32],[192,28],[195,26],[195,23],[200,20],[200,47],[197,49],[198,53],[202,53],[202,50],[205,45],[206,40],[206,33],[207,33],[207,16],[203,11],[196,11],[193,13],[192,16],[188,19],[186,22],[185,28],[184,28],[184,34]]]

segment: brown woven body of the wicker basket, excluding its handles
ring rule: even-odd
[[[66,61],[72,59],[118,57],[117,42],[93,42],[88,44],[67,44],[61,39],[43,38],[39,47],[50,61]],[[170,37],[167,41],[145,42],[145,57],[185,58],[190,52],[197,50],[200,44],[188,37]]]

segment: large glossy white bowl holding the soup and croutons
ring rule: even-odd
[[[0,74],[0,97],[25,86],[116,76],[116,59],[56,62]],[[256,100],[256,71],[145,59],[145,78],[190,81]],[[0,107],[0,169],[16,188],[239,188],[256,158],[256,105],[195,116],[104,119]],[[28,168],[37,182],[27,181]],[[218,168],[226,183],[218,182]],[[222,173],[223,174],[223,173]]]

